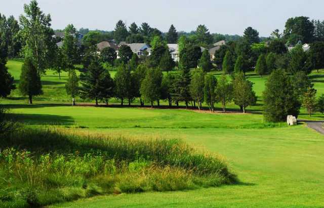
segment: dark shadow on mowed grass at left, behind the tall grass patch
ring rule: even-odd
[[[48,115],[48,114],[21,114],[8,113],[8,118],[25,124],[32,125],[64,125],[71,126],[74,124],[74,119],[70,116]]]

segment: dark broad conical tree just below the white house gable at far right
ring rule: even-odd
[[[297,71],[304,71],[305,73],[310,73],[311,68],[307,60],[307,55],[302,49],[302,46],[297,45],[291,52],[291,61],[288,66],[288,71],[292,74]]]

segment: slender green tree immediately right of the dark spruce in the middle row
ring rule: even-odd
[[[129,97],[131,92],[132,79],[131,79],[131,70],[124,63],[122,63],[116,71],[115,74],[115,95],[121,100],[121,106],[124,105],[124,99]]]

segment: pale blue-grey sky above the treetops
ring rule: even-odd
[[[29,0],[0,0],[0,13],[18,18]],[[118,20],[129,26],[147,22],[167,32],[171,24],[178,31],[190,32],[205,24],[211,33],[238,34],[252,26],[260,36],[274,29],[282,31],[290,17],[307,16],[324,20],[323,0],[38,0],[39,7],[51,14],[52,27],[113,30]]]

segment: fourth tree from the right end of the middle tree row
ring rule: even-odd
[[[201,102],[204,101],[205,73],[202,68],[196,68],[191,75],[190,95],[197,103],[200,110]]]

